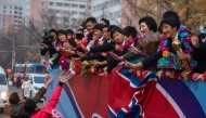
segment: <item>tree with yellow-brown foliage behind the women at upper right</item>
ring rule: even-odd
[[[151,15],[159,23],[163,13],[170,10],[177,12],[182,24],[193,31],[198,30],[201,26],[206,27],[205,0],[140,0],[139,3],[137,3],[137,0],[123,0],[123,2],[127,3],[126,10],[123,11],[123,17],[131,23],[136,23],[133,17],[138,17],[139,19],[143,15]],[[130,14],[125,12],[127,8],[131,12]]]

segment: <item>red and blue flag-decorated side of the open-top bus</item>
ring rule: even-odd
[[[57,82],[48,88],[47,102]],[[65,118],[206,118],[206,82],[159,79],[156,73],[142,81],[117,69],[107,77],[76,75],[63,86],[56,109]]]

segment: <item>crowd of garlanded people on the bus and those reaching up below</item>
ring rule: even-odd
[[[30,118],[49,118],[50,110],[57,104],[63,82],[74,75],[87,77],[96,73],[106,76],[117,66],[137,76],[141,70],[170,70],[188,75],[205,73],[206,31],[191,32],[173,11],[165,12],[158,26],[153,17],[143,16],[139,28],[140,32],[133,26],[120,28],[110,25],[105,18],[98,23],[94,17],[88,17],[78,30],[82,34],[81,38],[72,29],[50,29],[49,42],[41,43],[41,55],[49,51],[50,60],[42,63],[50,65],[50,69],[61,69],[64,78],[46,105],[48,113],[39,110],[36,103],[52,79],[33,100],[22,102],[16,93],[11,94],[12,118],[20,118],[25,113]]]

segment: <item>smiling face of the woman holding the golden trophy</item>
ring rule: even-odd
[[[163,24],[163,32],[166,37],[175,39],[177,35],[177,27],[171,27],[168,24]]]

